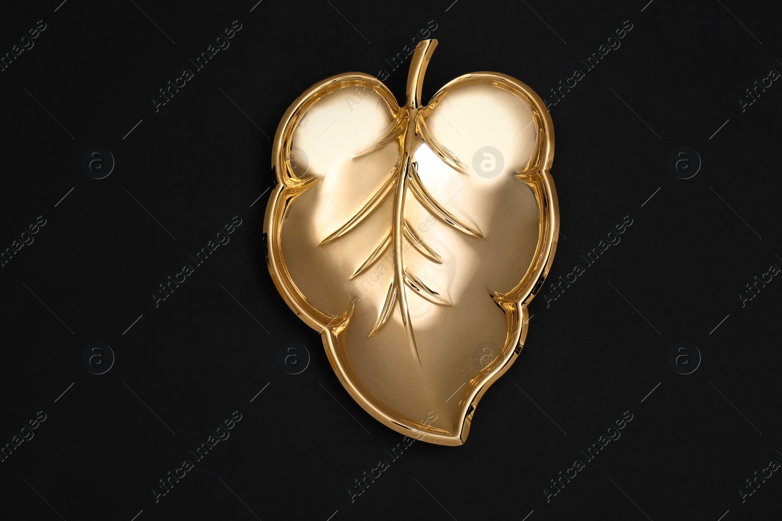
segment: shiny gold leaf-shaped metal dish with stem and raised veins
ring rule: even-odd
[[[436,45],[412,55],[404,107],[363,73],[291,105],[264,232],[274,284],[353,399],[402,434],[458,445],[521,351],[551,266],[554,129],[540,98],[498,73],[422,105]]]

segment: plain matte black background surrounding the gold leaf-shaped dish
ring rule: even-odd
[[[46,29],[0,72],[0,248],[38,216],[46,224],[0,268],[0,444],[38,411],[47,418],[0,462],[0,516],[780,519],[778,472],[739,493],[782,461],[782,281],[744,307],[739,297],[782,266],[782,86],[739,102],[782,71],[780,11],[452,2],[3,5],[3,54],[38,20]],[[230,47],[156,112],[158,89],[234,20]],[[553,99],[560,80],[586,73],[551,106],[562,235],[549,280],[583,265],[625,216],[633,224],[557,300],[532,303],[526,347],[464,446],[415,442],[351,502],[354,480],[402,437],[350,399],[320,337],[274,289],[268,137],[305,88],[337,73],[385,69],[402,101],[407,63],[392,71],[386,59],[429,20],[439,47],[425,97],[494,70]],[[587,70],[579,60],[626,20],[621,47]],[[94,146],[116,160],[102,180],[81,168]],[[687,180],[668,166],[682,146],[702,160]],[[156,307],[158,284],[234,216],[230,243]],[[81,362],[94,341],[116,355],[101,375]],[[680,341],[702,355],[694,373],[669,365]],[[310,354],[300,374],[277,362],[289,342]],[[234,411],[230,437],[156,502],[152,487]],[[622,436],[587,462],[580,451],[626,411]],[[586,468],[547,502],[543,489],[575,459]]]

